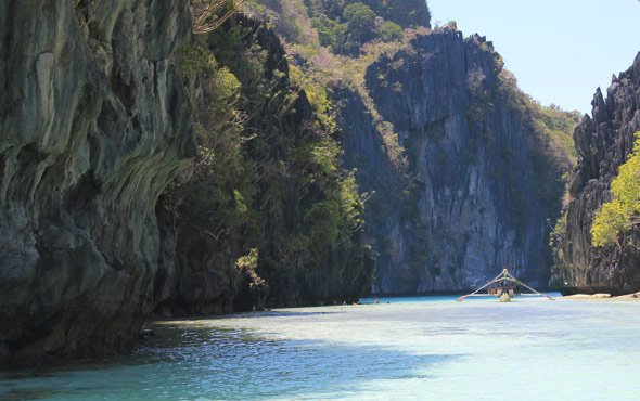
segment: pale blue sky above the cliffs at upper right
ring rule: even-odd
[[[640,51],[639,0],[426,0],[432,26],[453,20],[464,36],[486,36],[543,105],[591,114],[596,88]]]

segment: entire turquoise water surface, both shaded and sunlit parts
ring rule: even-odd
[[[0,373],[0,399],[640,399],[640,301],[453,299],[155,322],[132,357]]]

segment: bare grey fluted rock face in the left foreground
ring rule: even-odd
[[[188,1],[1,3],[0,361],[137,338],[172,264],[155,199],[195,153],[190,29]]]

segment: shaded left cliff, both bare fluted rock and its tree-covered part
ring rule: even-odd
[[[263,22],[195,37],[193,10],[0,5],[0,363],[130,349],[153,311],[368,290],[362,205],[321,90],[313,103],[294,82]]]

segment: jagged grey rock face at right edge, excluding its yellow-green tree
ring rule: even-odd
[[[626,244],[638,244],[640,232],[629,233],[618,249],[593,248],[590,231],[593,212],[611,200],[611,182],[640,131],[640,54],[627,72],[614,76],[606,102],[598,89],[591,104],[592,117],[585,116],[574,132],[579,159],[551,285],[566,293],[633,293],[640,288],[640,251]]]

